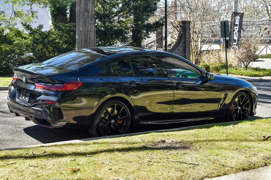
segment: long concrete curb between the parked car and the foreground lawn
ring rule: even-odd
[[[250,119],[250,120],[254,120],[254,119]],[[230,121],[230,122],[223,122],[223,123],[235,123],[235,122],[240,122],[240,121]],[[96,137],[96,138],[86,138],[86,139],[79,139],[79,140],[52,142],[52,143],[47,143],[47,144],[36,144],[36,145],[22,146],[22,147],[15,147],[15,148],[5,148],[5,149],[0,149],[0,151],[2,151],[2,150],[16,150],[16,149],[24,149],[24,148],[35,148],[35,147],[41,147],[41,146],[51,146],[51,145],[60,145],[60,144],[69,144],[69,143],[92,141],[92,140],[105,139],[105,138],[125,137],[125,136],[132,136],[132,135],[146,134],[146,133],[153,133],[153,132],[176,131],[176,130],[183,130],[183,129],[187,129],[187,128],[191,128],[191,127],[201,127],[201,126],[205,126],[205,125],[214,125],[214,124],[219,125],[222,123],[203,124],[203,125],[180,127],[180,128],[174,128],[174,129],[144,131],[144,132],[138,132],[138,133],[120,134],[120,135],[112,135],[112,136],[106,136],[106,137]]]

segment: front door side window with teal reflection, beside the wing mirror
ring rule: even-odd
[[[170,77],[203,78],[202,73],[190,64],[172,57],[162,57]]]

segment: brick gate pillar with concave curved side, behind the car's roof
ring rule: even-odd
[[[173,47],[169,52],[190,60],[190,21],[173,21],[171,26],[171,43]]]

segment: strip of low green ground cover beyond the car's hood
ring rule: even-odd
[[[219,73],[226,73],[226,69],[220,70]],[[271,69],[265,68],[248,68],[246,71],[243,68],[228,68],[229,74],[241,75],[241,76],[249,76],[249,77],[263,77],[263,76],[271,76]]]

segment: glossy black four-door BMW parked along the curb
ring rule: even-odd
[[[124,134],[139,124],[244,120],[256,113],[249,82],[207,73],[172,53],[91,47],[14,68],[8,107],[49,128]]]

